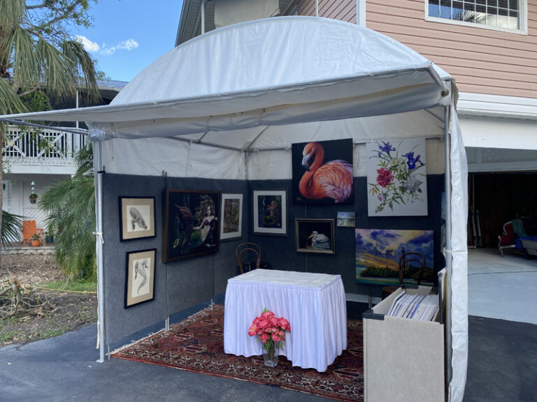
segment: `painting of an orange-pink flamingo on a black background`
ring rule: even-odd
[[[349,142],[341,149],[350,150],[352,161],[352,140],[329,142]],[[306,200],[330,200],[336,203],[352,202],[352,164],[342,159],[324,163],[324,147],[320,142],[308,142],[302,151],[302,166],[306,169],[299,182],[299,191]]]

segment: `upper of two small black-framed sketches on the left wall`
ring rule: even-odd
[[[155,237],[155,197],[120,197],[120,240]]]

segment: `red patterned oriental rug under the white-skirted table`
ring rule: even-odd
[[[182,322],[116,352],[112,357],[158,364],[292,389],[338,401],[364,401],[364,368],[361,320],[348,320],[347,350],[324,373],[293,367],[285,356],[278,366],[265,367],[262,356],[224,353],[224,306],[206,308]]]

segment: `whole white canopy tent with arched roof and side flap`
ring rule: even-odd
[[[96,172],[106,165],[112,173],[213,179],[291,179],[293,142],[348,137],[355,142],[354,175],[365,176],[366,142],[429,138],[428,161],[436,152],[450,200],[448,377],[451,400],[462,401],[466,156],[455,98],[447,73],[387,36],[336,20],[276,17],[183,43],[145,68],[110,105],[0,118],[87,121]]]

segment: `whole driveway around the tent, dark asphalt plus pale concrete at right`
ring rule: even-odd
[[[537,260],[501,258],[492,250],[478,249],[468,252],[468,261],[464,402],[537,402]],[[173,322],[205,306],[182,311]],[[120,345],[159,328],[133,334]],[[90,325],[57,338],[0,348],[0,401],[329,401],[152,364],[120,359],[96,363],[95,344],[96,325]]]

